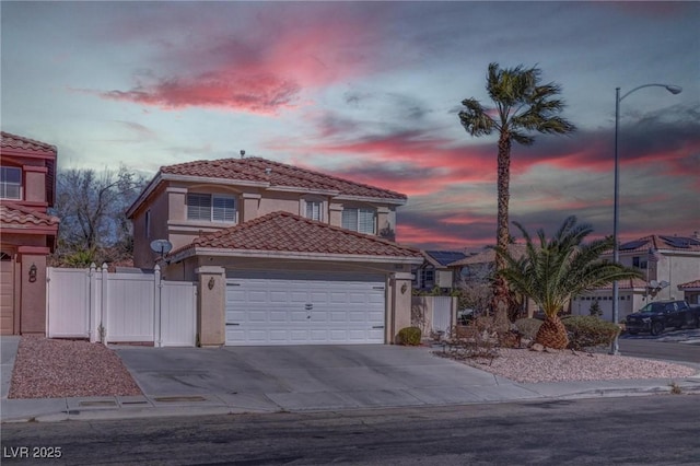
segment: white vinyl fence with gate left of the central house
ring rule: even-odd
[[[49,338],[194,347],[197,288],[153,273],[108,273],[107,266],[47,269]]]

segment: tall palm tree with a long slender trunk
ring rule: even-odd
[[[501,69],[498,63],[491,63],[486,89],[495,108],[487,109],[475,98],[462,101],[466,108],[459,112],[459,120],[467,132],[479,137],[499,131],[497,246],[501,248],[508,246],[510,237],[508,206],[513,141],[530,145],[535,138],[528,132],[563,135],[575,130],[572,124],[557,116],[564,107],[563,101],[555,98],[561,88],[555,83],[540,84],[540,74],[538,68],[525,69],[521,65]],[[495,269],[501,270],[503,266],[497,256]],[[508,303],[508,283],[499,277],[493,283],[492,308],[495,326],[501,331],[509,327]]]

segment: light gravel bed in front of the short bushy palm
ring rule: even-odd
[[[625,378],[684,378],[693,368],[641,358],[571,350],[538,352],[499,349],[499,357],[459,358],[465,364],[516,382],[609,381]],[[550,351],[550,350],[547,350]]]

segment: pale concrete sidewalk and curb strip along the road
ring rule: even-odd
[[[600,386],[607,382],[607,386]],[[324,394],[302,394],[304,399],[294,398],[294,394],[288,394],[289,399],[276,403],[277,397],[271,394],[267,399],[259,396],[237,397],[231,394],[202,395],[198,397],[184,396],[144,396],[144,397],[86,397],[86,398],[43,398],[43,399],[3,399],[2,423],[10,422],[59,422],[59,421],[92,421],[92,420],[119,420],[119,419],[145,419],[180,416],[219,416],[244,413],[279,413],[279,412],[317,412],[317,411],[343,411],[358,409],[386,409],[399,407],[451,406],[451,405],[477,405],[502,404],[517,401],[542,401],[561,399],[583,399],[599,397],[628,397],[672,394],[670,384],[675,383],[680,391],[679,395],[700,394],[700,374],[687,377],[682,381],[602,381],[598,386],[578,387],[568,383],[541,383],[541,384],[504,384],[498,387],[483,387],[476,391],[474,387],[465,389],[463,399],[421,400],[413,396],[416,401],[396,403],[393,405],[377,404],[366,406],[363,404],[350,404],[349,398],[341,403],[307,405],[304,401],[316,398],[323,401]],[[591,384],[591,383],[588,383]],[[637,385],[637,386],[634,386]],[[325,394],[330,395],[330,394]],[[357,395],[357,394],[355,394]],[[364,394],[371,396],[372,394]],[[350,396],[350,395],[348,395]],[[138,399],[137,399],[138,398]],[[194,400],[196,398],[196,400]]]

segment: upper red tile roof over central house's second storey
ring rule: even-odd
[[[319,172],[300,168],[261,158],[200,160],[162,166],[161,173],[201,176],[308,190],[331,190],[345,196],[405,200],[406,195],[350,182]]]

